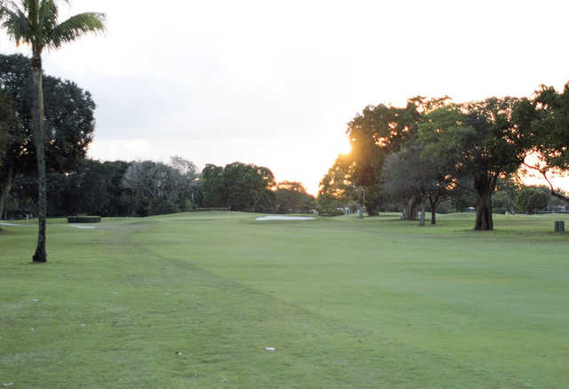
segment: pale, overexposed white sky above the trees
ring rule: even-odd
[[[565,1],[60,3],[62,18],[107,14],[104,35],[44,54],[46,74],[92,92],[89,156],[254,163],[312,194],[368,105],[569,81]]]

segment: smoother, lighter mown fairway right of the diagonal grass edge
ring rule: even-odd
[[[179,236],[144,240],[159,250],[172,251],[182,240],[209,246],[211,257],[196,258],[202,266],[285,301],[481,369],[501,369],[527,385],[564,386],[569,310],[567,264],[559,253],[566,236],[499,229],[496,238],[452,219],[424,229],[381,218],[370,219],[372,226],[326,220],[317,228],[284,222],[259,228],[249,220],[238,225],[239,234],[232,234],[236,227],[212,226],[212,233],[200,226],[211,242],[194,242],[199,234],[183,228]],[[526,234],[544,241],[525,242]],[[307,242],[316,252],[305,250]]]

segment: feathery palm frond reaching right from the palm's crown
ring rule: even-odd
[[[90,32],[105,31],[106,15],[100,12],[84,12],[61,22],[46,36],[45,44],[59,48],[61,44],[75,41]]]

